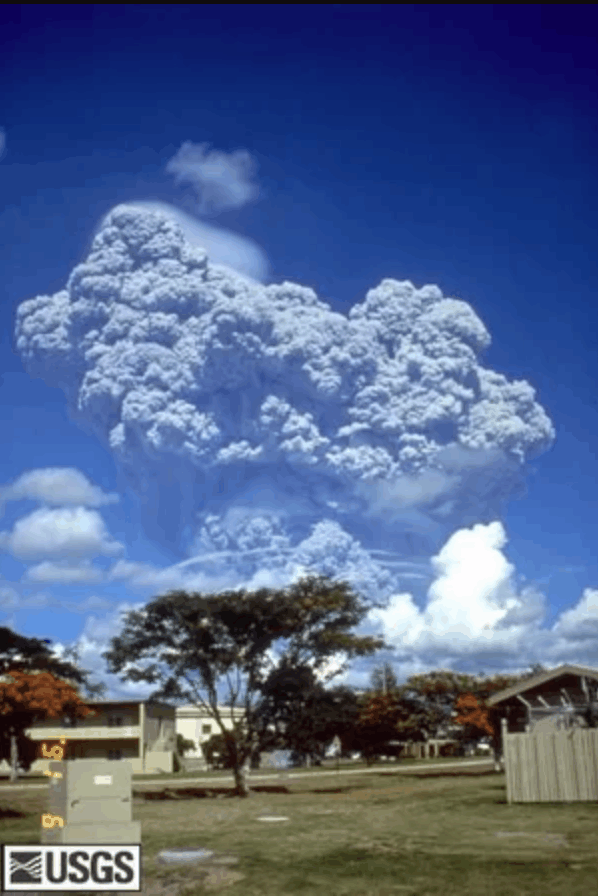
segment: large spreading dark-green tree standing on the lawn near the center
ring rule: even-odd
[[[189,701],[207,711],[223,736],[226,709],[219,686],[228,686],[233,722],[230,742],[236,792],[248,796],[245,764],[272,740],[258,703],[276,669],[322,671],[341,655],[345,663],[324,676],[340,674],[349,659],[368,656],[387,645],[378,638],[350,633],[369,612],[348,584],[308,576],[283,589],[188,594],[171,591],[141,611],[130,612],[124,630],[103,654],[109,671],[131,681],[159,682],[154,699]],[[280,652],[278,663],[271,648]],[[139,662],[147,659],[144,667]],[[152,662],[153,660],[153,662]],[[133,665],[135,664],[135,665]],[[125,667],[126,670],[125,670]],[[166,668],[165,668],[166,667]],[[187,687],[184,687],[184,683]],[[244,710],[235,727],[234,708]]]

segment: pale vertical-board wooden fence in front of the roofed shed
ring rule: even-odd
[[[509,803],[598,801],[598,729],[503,733]]]

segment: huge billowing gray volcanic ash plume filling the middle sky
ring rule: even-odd
[[[299,567],[372,598],[500,518],[552,443],[532,387],[481,365],[489,343],[436,286],[383,280],[345,316],[123,205],[17,312],[27,371],[110,447],[150,538],[231,587]]]

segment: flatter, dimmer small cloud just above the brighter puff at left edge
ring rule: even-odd
[[[53,506],[100,507],[115,504],[116,493],[105,494],[73,467],[42,467],[19,476],[0,491],[0,501],[39,501]]]

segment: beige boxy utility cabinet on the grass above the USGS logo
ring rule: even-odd
[[[131,817],[129,762],[55,760],[49,763],[49,771],[61,777],[51,777],[49,781],[46,825],[42,816],[42,843],[141,842],[141,824]]]

